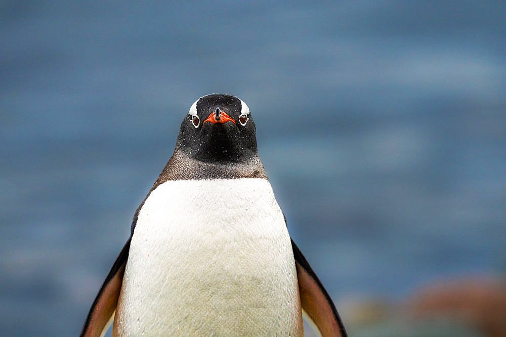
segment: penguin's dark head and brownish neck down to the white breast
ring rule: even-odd
[[[170,180],[267,179],[258,157],[255,123],[238,98],[211,94],[198,99],[181,123],[176,149],[146,196]],[[146,201],[144,199],[144,201]],[[132,222],[132,233],[144,201]]]

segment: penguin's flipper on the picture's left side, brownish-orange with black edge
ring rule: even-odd
[[[121,283],[123,282],[123,275],[125,272],[126,260],[130,251],[130,241],[128,239],[123,249],[119,253],[116,261],[112,265],[111,271],[105,278],[100,291],[93,301],[88,317],[86,318],[85,325],[82,326],[82,331],[79,337],[100,337],[107,332],[109,325],[112,323],[116,306],[118,304],[119,292],[121,290]]]

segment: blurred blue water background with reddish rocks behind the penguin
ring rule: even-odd
[[[183,117],[219,92],[251,109],[351,337],[506,336],[505,18],[504,1],[0,1],[0,335],[78,335]]]

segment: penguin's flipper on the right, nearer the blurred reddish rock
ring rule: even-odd
[[[293,240],[291,247],[297,268],[302,309],[318,327],[323,337],[347,337],[341,317],[318,276]]]

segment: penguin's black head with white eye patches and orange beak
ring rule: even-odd
[[[255,123],[247,105],[227,94],[201,97],[181,123],[176,151],[208,163],[258,157]]]

